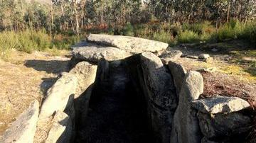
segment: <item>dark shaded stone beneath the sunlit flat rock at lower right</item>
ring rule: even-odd
[[[240,135],[250,129],[251,120],[242,113],[229,113],[227,115],[198,113],[198,118],[201,131],[208,139],[228,139],[232,135]]]

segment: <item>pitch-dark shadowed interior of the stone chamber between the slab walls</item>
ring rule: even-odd
[[[110,62],[104,76],[95,81],[86,118],[76,123],[75,142],[154,142],[144,95],[125,64]]]

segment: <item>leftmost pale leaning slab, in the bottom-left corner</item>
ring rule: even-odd
[[[0,142],[33,143],[38,120],[39,103],[34,101],[30,107],[23,111],[11,127],[4,132]]]

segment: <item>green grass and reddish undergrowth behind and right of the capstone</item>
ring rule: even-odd
[[[97,33],[112,35],[114,28],[110,28],[108,31],[96,31]],[[225,40],[245,40],[251,45],[256,45],[256,21],[241,23],[240,21],[232,20],[220,25],[218,28],[215,28],[215,25],[209,21],[193,24],[183,23],[183,25],[178,23],[166,25],[161,23],[131,25],[127,23],[127,25],[121,28],[120,34],[159,40],[167,42],[170,45],[191,42],[223,42]]]

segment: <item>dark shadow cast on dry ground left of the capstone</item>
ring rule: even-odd
[[[26,67],[32,67],[37,71],[46,71],[48,74],[60,74],[63,71],[68,71],[69,60],[27,60]]]

